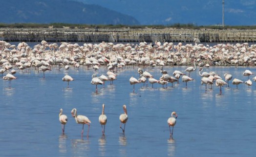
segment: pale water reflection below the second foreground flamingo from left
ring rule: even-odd
[[[72,139],[71,140],[71,148],[73,151],[73,154],[76,154],[77,156],[84,156],[85,152],[90,151],[90,141],[82,139]]]

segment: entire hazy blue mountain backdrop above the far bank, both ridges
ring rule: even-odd
[[[0,23],[221,25],[224,0],[2,0]],[[225,25],[256,25],[256,0],[224,2]]]

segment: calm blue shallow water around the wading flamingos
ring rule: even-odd
[[[161,77],[160,67],[149,71],[155,78]],[[165,66],[172,74],[174,70],[184,71],[187,66]],[[205,92],[205,85],[200,84],[198,68],[191,73],[195,80],[176,82],[167,89],[160,84],[129,84],[131,76],[138,78],[138,67],[118,69],[117,80],[113,85],[90,84],[92,68],[82,66],[79,70],[70,68],[68,74],[75,80],[63,82],[66,71],[53,67],[52,71],[43,72],[34,68],[16,69],[18,77],[11,81],[0,79],[1,95],[1,156],[52,156],[52,157],[216,157],[216,156],[255,156],[255,119],[256,119],[256,83],[248,89],[245,84],[233,84],[219,87],[213,84]],[[246,81],[244,70],[251,67],[210,67],[204,71],[215,71],[222,78],[229,72],[233,78]],[[97,76],[106,75],[107,68],[101,67]],[[252,76],[250,77],[252,80]],[[145,83],[146,86],[146,83]],[[106,136],[102,136],[98,117],[102,104],[106,105]],[[119,128],[119,115],[123,104],[127,105],[128,122],[126,134]],[[59,110],[63,108],[68,117],[65,134],[62,134],[59,122]],[[78,115],[85,115],[91,120],[89,136],[85,125],[81,137],[82,125],[71,117],[70,111],[77,108]],[[167,119],[171,112],[178,114],[170,138]]]

